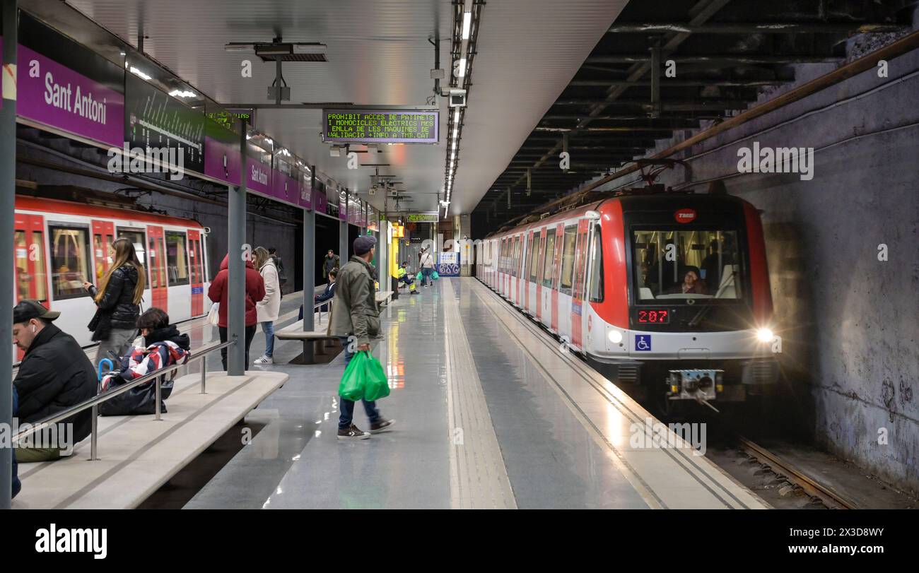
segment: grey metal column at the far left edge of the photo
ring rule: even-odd
[[[0,108],[0,261],[13,268],[13,217],[16,211],[16,46],[17,0],[3,1],[3,107]],[[0,273],[0,293],[14,292],[13,273]],[[0,423],[13,427],[13,308],[6,298],[0,304]],[[13,495],[13,448],[0,447],[0,510],[8,510]]]

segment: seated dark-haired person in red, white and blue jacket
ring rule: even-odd
[[[137,319],[137,328],[143,336],[143,347],[134,348],[121,359],[118,370],[102,378],[101,392],[128,384],[131,380],[146,376],[166,366],[185,364],[191,354],[188,352],[188,335],[180,334],[175,324],[169,324],[169,315],[161,309],[147,309]],[[172,393],[175,371],[168,380],[160,383],[160,398],[167,399]],[[160,411],[165,412],[165,402]],[[119,394],[99,404],[100,416],[136,416],[156,413],[156,386],[151,380],[137,388]]]

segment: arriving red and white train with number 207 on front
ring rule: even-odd
[[[485,285],[665,412],[777,382],[763,228],[743,199],[623,193],[476,248]]]

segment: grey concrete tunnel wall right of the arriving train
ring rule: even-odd
[[[797,66],[796,84],[760,101],[832,69]],[[891,60],[888,75],[861,73],[704,141],[679,157],[691,174],[676,167],[659,181],[724,178],[728,193],[764,211],[776,331],[783,341],[779,359],[788,383],[786,405],[770,416],[780,424],[800,419],[835,455],[916,493],[919,51]],[[678,140],[661,141],[654,152]],[[738,149],[754,141],[813,147],[813,178],[738,174]],[[887,261],[879,260],[881,244]]]

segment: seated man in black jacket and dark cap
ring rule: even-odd
[[[45,309],[38,300],[25,299],[13,308],[13,343],[26,353],[13,380],[19,397],[20,423],[40,421],[96,396],[92,363],[73,336],[51,324],[60,314]],[[73,430],[65,431],[66,424],[73,424]],[[58,424],[57,444],[17,447],[17,461],[57,459],[62,450],[89,435],[91,428],[92,410],[74,414]],[[35,437],[38,441],[39,436]]]

